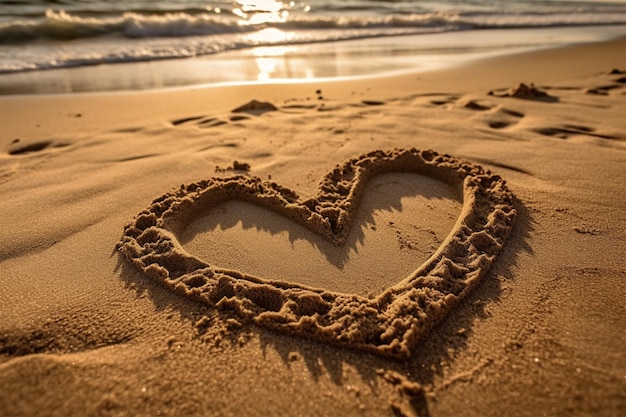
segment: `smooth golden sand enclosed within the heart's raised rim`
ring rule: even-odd
[[[213,266],[371,298],[432,255],[461,207],[460,188],[392,172],[367,182],[341,246],[240,200],[210,208],[176,238],[188,253]]]

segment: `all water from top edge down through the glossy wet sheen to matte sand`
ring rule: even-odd
[[[623,34],[626,1],[0,0],[0,93],[358,76]]]

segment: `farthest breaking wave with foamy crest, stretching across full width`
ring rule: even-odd
[[[251,33],[268,27],[282,30],[358,30],[372,28],[441,27],[515,28],[570,25],[626,24],[626,13],[471,13],[427,12],[384,16],[346,16],[293,13],[280,18],[241,18],[232,13],[184,12],[142,15],[124,13],[109,17],[81,17],[63,10],[48,10],[45,18],[0,23],[0,43],[37,40],[75,40],[99,36],[124,38],[186,37]]]

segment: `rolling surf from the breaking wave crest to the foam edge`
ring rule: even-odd
[[[136,12],[105,16],[48,10],[44,18],[0,23],[0,74],[154,61],[256,46],[297,45],[474,29],[623,25],[624,12],[424,11],[329,13]],[[622,10],[622,9],[620,9]],[[247,16],[245,16],[247,14]],[[64,42],[72,40],[72,42]],[[51,42],[52,41],[52,42]]]

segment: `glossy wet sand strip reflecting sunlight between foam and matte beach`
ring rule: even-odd
[[[490,57],[623,36],[626,27],[609,25],[486,29],[258,47],[195,58],[1,74],[0,95],[349,81],[430,72]]]

